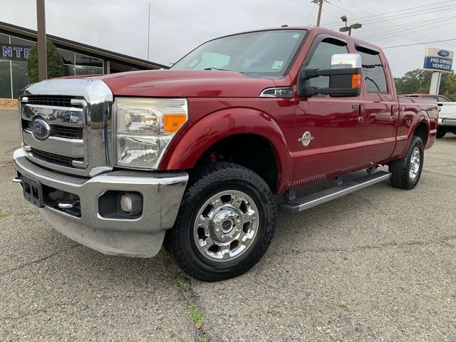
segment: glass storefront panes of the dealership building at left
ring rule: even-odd
[[[2,33],[0,33],[0,43],[29,47],[34,44],[33,41]],[[61,48],[57,48],[57,51],[63,58],[65,76],[103,75],[103,59]],[[27,85],[27,62],[0,58],[0,98],[18,98],[21,89]]]

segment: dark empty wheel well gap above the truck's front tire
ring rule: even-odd
[[[259,175],[276,192],[279,163],[271,142],[254,134],[239,134],[219,140],[209,147],[199,160],[199,165],[209,162],[233,162],[249,168]]]

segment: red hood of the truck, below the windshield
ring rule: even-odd
[[[235,71],[155,70],[97,76],[115,96],[257,98],[274,81]]]

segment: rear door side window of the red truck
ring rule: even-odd
[[[358,48],[363,63],[364,79],[368,93],[388,93],[385,69],[377,51]]]

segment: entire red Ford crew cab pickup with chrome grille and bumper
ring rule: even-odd
[[[14,181],[48,224],[105,254],[153,257],[165,241],[203,281],[254,266],[277,209],[388,179],[413,189],[438,119],[435,100],[396,95],[378,46],[312,27],[217,38],[170,70],[36,83],[19,112]]]

